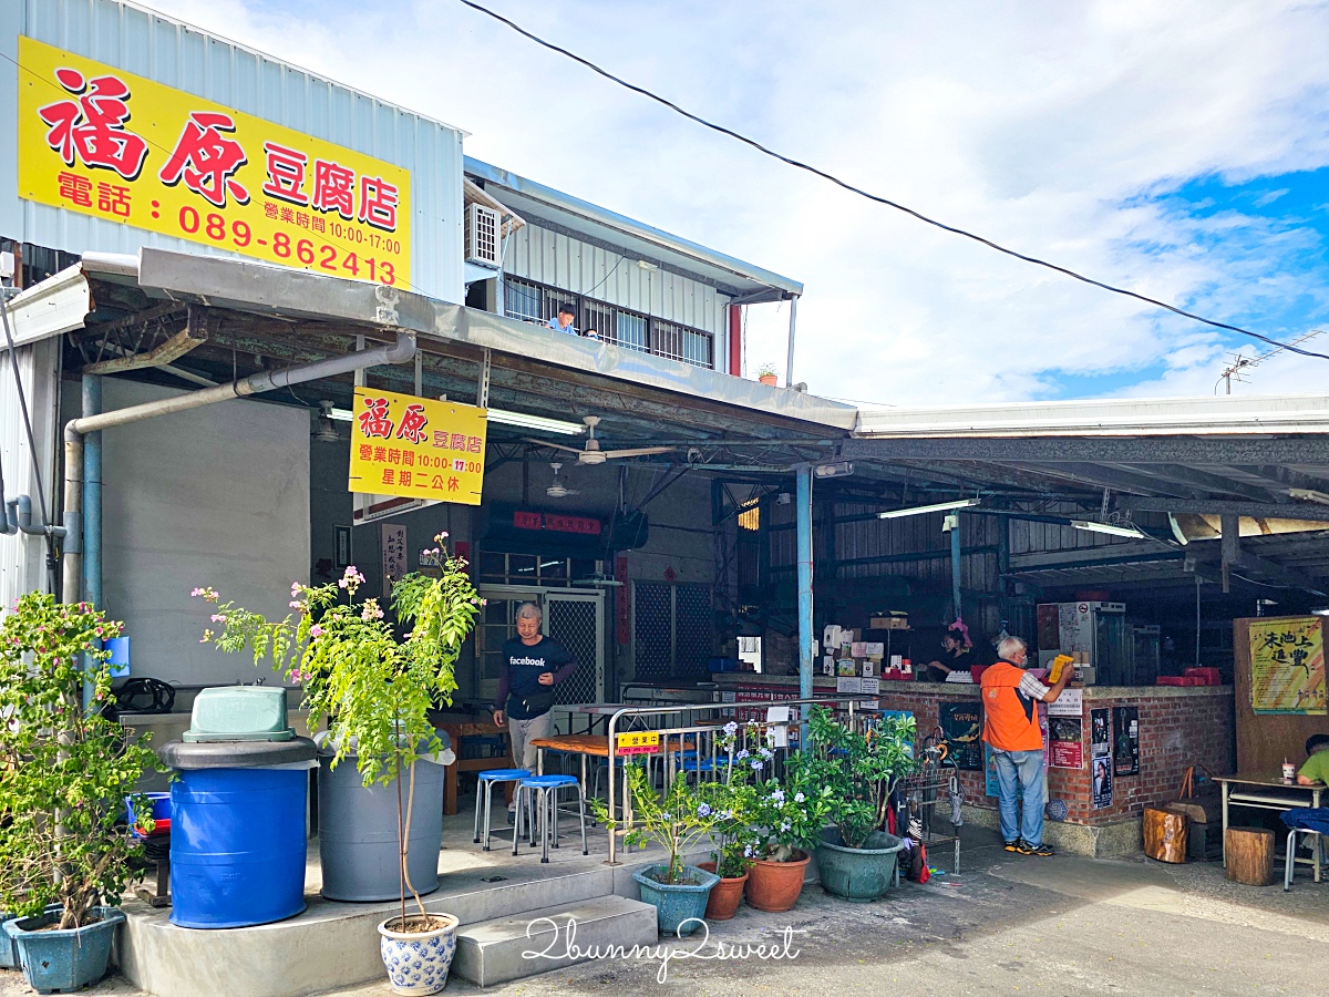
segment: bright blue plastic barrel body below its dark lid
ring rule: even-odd
[[[183,770],[171,783],[171,924],[243,928],[304,909],[308,774]]]

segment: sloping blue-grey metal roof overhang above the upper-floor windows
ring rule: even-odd
[[[546,187],[510,170],[469,156],[465,158],[465,170],[486,185],[502,187],[505,205],[526,218],[545,222],[553,231],[563,229],[587,241],[607,239],[614,249],[634,253],[639,259],[676,270],[683,277],[711,283],[730,296],[754,295],[752,299],[758,300],[763,291],[769,291],[766,300],[781,300],[803,294],[803,284],[797,280]]]

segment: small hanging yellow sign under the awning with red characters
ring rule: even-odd
[[[356,388],[350,491],[480,505],[488,417],[474,405]]]

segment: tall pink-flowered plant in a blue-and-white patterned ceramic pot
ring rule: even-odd
[[[441,545],[445,537],[435,540]],[[226,604],[213,615],[223,626],[221,634],[203,634],[205,642],[215,641],[222,650],[249,647],[255,662],[270,658],[290,681],[303,685],[311,726],[327,719],[330,770],[354,758],[361,786],[391,787],[400,912],[379,925],[379,935],[392,989],[407,994],[441,990],[456,952],[457,919],[428,912],[415,885],[417,875],[437,876],[441,836],[432,832],[432,847],[424,849],[429,865],[423,873],[421,860],[412,861],[411,844],[415,822],[439,827],[443,799],[416,800],[417,766],[444,751],[429,710],[435,701],[451,705],[461,642],[482,605],[465,561],[447,556],[441,546],[425,554],[427,562],[440,568],[436,577],[416,572],[392,586],[393,615],[409,627],[400,639],[377,600],[356,604],[364,576],[354,566],[336,584],[294,584],[294,617],[271,622]],[[195,592],[218,601],[211,589]],[[411,916],[408,891],[416,904]]]

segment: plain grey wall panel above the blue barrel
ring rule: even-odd
[[[102,405],[175,393],[108,378]],[[199,643],[209,613],[189,593],[211,585],[270,617],[290,611],[290,585],[310,570],[307,412],[227,401],[108,429],[102,441],[105,601],[126,623],[132,673],[183,685],[272,682],[251,658]]]

